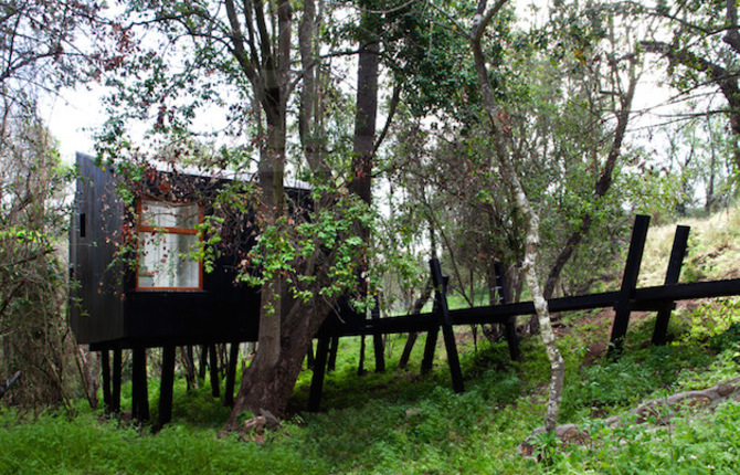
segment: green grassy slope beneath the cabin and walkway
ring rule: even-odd
[[[690,223],[691,254],[683,279],[738,276],[740,218]],[[672,230],[651,233],[642,285],[659,283]],[[662,244],[663,251],[656,244]],[[740,403],[685,412],[670,426],[630,423],[605,429],[602,418],[639,401],[712,386],[740,373],[740,300],[683,307],[672,320],[674,341],[645,345],[649,315],[633,319],[625,356],[617,363],[593,359],[607,338],[605,313],[563,316],[559,345],[567,359],[562,422],[588,428],[592,442],[556,447],[551,465],[521,457],[516,446],[540,425],[548,367],[535,339],[522,342],[521,362],[505,345],[467,341],[461,349],[467,392],[454,394],[444,350],[435,371],[419,376],[423,338],[412,367],[395,362],[404,339],[389,338],[389,370],[356,376],[357,339],[342,340],[337,371],[325,387],[319,414],[297,413],[282,431],[243,441],[216,437],[228,410],[209,388],[176,391],[176,423],[157,435],[147,428],[104,420],[84,409],[74,418],[25,418],[0,408],[0,473],[736,473],[740,466]],[[305,407],[310,372],[294,395]],[[156,408],[152,384],[152,404]],[[542,450],[554,442],[542,437]]]

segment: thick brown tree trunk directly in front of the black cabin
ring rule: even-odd
[[[235,32],[241,32],[233,1],[229,1],[226,7],[232,29]],[[258,24],[264,23],[265,17],[262,8],[255,6],[250,12],[257,18]],[[245,71],[245,75],[252,81],[255,97],[262,105],[267,124],[265,142],[260,150],[258,163],[258,178],[262,188],[260,224],[265,228],[278,226],[278,233],[286,232],[285,229],[279,228],[278,223],[285,213],[283,180],[285,175],[292,14],[290,2],[281,0],[277,4],[277,41],[275,45],[267,45],[268,38],[262,38],[263,57],[260,66],[250,62],[247,53],[241,44],[242,40],[234,40],[236,43],[234,49],[236,59]],[[251,19],[247,18],[246,21],[249,22]],[[255,67],[261,68],[255,70]],[[300,371],[303,356],[306,353],[308,345],[305,345],[298,356],[292,353],[294,349],[290,347],[286,348],[287,353],[284,353],[283,349],[284,309],[282,296],[284,284],[283,278],[277,275],[262,286],[260,347],[249,370],[242,376],[230,425],[233,425],[235,418],[247,409],[253,412],[266,409],[273,413],[282,413],[285,410],[285,404],[287,404],[287,397],[295,384],[295,378],[292,379],[290,374],[295,372],[297,377]],[[297,365],[293,362],[295,358],[299,358]],[[297,368],[290,369],[290,363],[294,363]],[[288,384],[288,387],[284,387],[284,384]]]

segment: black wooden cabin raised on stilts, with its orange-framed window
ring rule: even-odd
[[[234,348],[257,339],[260,289],[235,282],[239,263],[255,239],[249,205],[225,215],[228,207],[219,205],[218,232],[226,244],[210,272],[198,258],[199,230],[214,215],[214,200],[251,177],[147,168],[131,181],[133,193],[126,187],[130,198],[124,200],[117,190],[123,179],[110,169],[97,167],[82,154],[76,163],[70,226],[72,329],[80,344],[102,352],[104,397],[112,398],[114,410],[119,408],[120,351],[133,350],[134,415],[146,419],[147,348],[163,349],[165,374],[166,367],[173,367],[178,346],[209,346],[213,360],[215,344],[232,344],[235,370]],[[308,202],[304,183],[290,183],[287,194],[293,205]],[[229,400],[233,376],[228,376],[232,377],[226,384]]]

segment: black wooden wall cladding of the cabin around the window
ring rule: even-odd
[[[70,319],[78,342],[104,350],[257,339],[258,289],[234,284],[233,257],[220,258],[212,273],[203,274],[201,291],[137,289],[134,273],[115,260],[126,219],[118,178],[92,157],[77,154],[76,162],[70,276],[78,285],[72,287]]]

